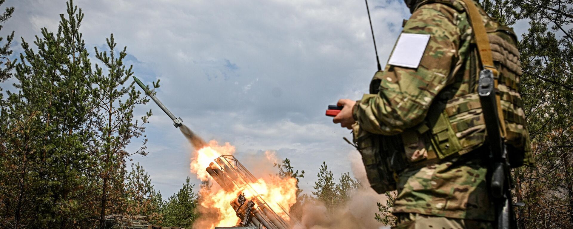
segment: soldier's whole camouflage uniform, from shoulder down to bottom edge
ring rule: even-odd
[[[481,9],[477,2],[474,3]],[[424,224],[417,223],[419,226],[415,227],[413,223],[419,220],[449,222],[437,223],[434,228],[466,227],[464,220],[481,222],[476,228],[492,228],[490,221],[495,219],[486,185],[487,169],[480,158],[486,155],[483,147],[485,123],[474,93],[480,67],[472,44],[472,27],[463,4],[456,0],[418,4],[402,32],[430,34],[418,68],[386,65],[379,94],[364,95],[353,110],[355,138],[364,131],[380,135],[401,134],[408,162],[425,161],[429,155],[435,157],[435,153],[428,152],[432,148],[419,140],[415,129],[425,121],[439,93],[455,89],[448,98],[444,114],[453,123],[450,132],[462,147],[450,149],[452,152],[448,155],[438,155],[441,160],[433,164],[413,166],[398,174],[398,196],[393,209],[399,216],[397,228],[420,228]],[[480,11],[488,32],[499,28],[497,22]],[[496,39],[493,37],[491,42],[499,40]],[[507,40],[500,42],[510,42],[507,46],[515,47],[515,41]],[[503,45],[500,47],[503,49]],[[494,48],[492,44],[492,50]],[[504,83],[499,87],[505,98],[501,103],[505,106],[504,117],[511,119],[507,121],[507,128],[513,130],[508,131],[508,141],[515,139],[510,143],[529,150],[522,164],[531,165],[533,159],[524,125],[523,102],[517,91],[521,75],[519,52],[504,49],[499,53],[503,56],[496,59],[494,53],[494,59],[503,66],[496,67],[508,76],[500,79]],[[510,102],[505,102],[508,100]],[[448,157],[452,154],[458,157]]]

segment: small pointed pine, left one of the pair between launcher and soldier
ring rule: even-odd
[[[316,181],[315,186],[313,186],[315,191],[312,192],[312,195],[315,195],[316,199],[322,201],[327,209],[333,209],[337,198],[336,187],[332,172],[328,170],[328,165],[325,161],[323,161],[323,164],[320,166],[317,177],[318,181]]]

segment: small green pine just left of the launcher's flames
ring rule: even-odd
[[[208,185],[208,184],[207,184]],[[163,210],[163,225],[191,228],[198,215],[197,195],[193,192],[195,185],[189,183],[189,177],[183,187],[169,197]]]

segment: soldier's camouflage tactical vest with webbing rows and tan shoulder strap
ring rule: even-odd
[[[516,162],[512,166],[533,165],[523,100],[519,94],[521,64],[515,33],[490,20],[474,0],[425,0],[417,7],[429,3],[455,9],[456,17],[466,20],[459,23],[458,28],[465,36],[471,36],[472,39],[466,41],[472,45],[465,56],[460,56],[464,59],[465,72],[455,73],[453,76],[457,81],[448,86],[456,87],[451,91],[454,95],[443,96],[448,87],[444,88],[431,104],[425,121],[402,133],[408,167],[459,157],[482,146],[487,133],[476,84],[478,72],[484,68],[494,72],[500,133],[505,142],[516,149],[513,153],[516,155],[510,158],[524,158],[523,163]],[[419,157],[419,154],[426,154],[426,157]]]

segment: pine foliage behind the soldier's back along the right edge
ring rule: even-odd
[[[525,203],[525,207],[516,207],[518,228],[571,228],[573,1],[498,0],[488,4],[496,7],[485,10],[502,22],[529,21],[519,42],[524,73],[520,89],[536,167],[512,171],[514,196]],[[513,11],[517,14],[500,13]]]

